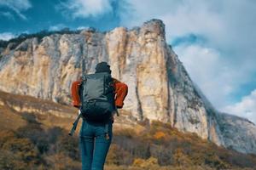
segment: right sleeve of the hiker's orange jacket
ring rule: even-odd
[[[128,86],[124,82],[119,82],[117,79],[113,78],[114,91],[115,91],[115,105],[117,108],[122,108],[124,105],[124,100],[128,94]]]

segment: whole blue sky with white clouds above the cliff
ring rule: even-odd
[[[218,111],[256,123],[255,0],[0,0],[0,39],[20,33],[166,25],[166,41]]]

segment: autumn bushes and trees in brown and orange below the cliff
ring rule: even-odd
[[[0,169],[81,169],[79,137],[61,127],[45,127],[33,114],[26,126],[0,130]],[[113,133],[107,170],[253,169],[256,156],[226,150],[195,133],[180,133],[169,124],[152,122],[143,131]]]

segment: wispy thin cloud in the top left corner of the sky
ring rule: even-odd
[[[27,20],[27,18],[26,15],[21,12],[32,8],[32,4],[28,0],[1,0],[0,7],[1,6],[10,8],[23,20]]]

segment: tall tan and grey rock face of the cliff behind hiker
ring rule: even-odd
[[[113,77],[129,87],[124,110],[133,118],[169,122],[216,144],[256,153],[255,125],[214,110],[166,43],[160,20],[131,30],[88,29],[9,46],[0,58],[0,89],[5,92],[69,105],[71,83],[81,76],[82,68],[91,73],[98,62],[107,61]],[[241,138],[232,137],[234,130],[242,133]]]

